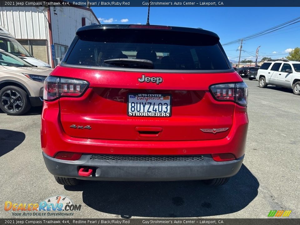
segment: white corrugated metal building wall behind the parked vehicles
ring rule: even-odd
[[[50,14],[49,14],[50,12]],[[52,40],[48,18],[51,17]],[[78,28],[99,23],[93,12],[83,7],[0,7],[0,25],[7,29],[32,55],[53,67],[63,57]],[[28,40],[31,42],[28,47]],[[37,40],[33,43],[32,40]],[[43,43],[43,44],[41,44]],[[61,46],[60,54],[52,61],[51,44]],[[47,59],[45,57],[47,54]]]

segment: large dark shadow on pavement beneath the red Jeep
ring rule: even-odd
[[[65,189],[83,191],[83,202],[97,211],[130,218],[203,217],[237,212],[257,196],[258,187],[257,179],[242,164],[237,175],[220,187],[200,181],[85,181]]]

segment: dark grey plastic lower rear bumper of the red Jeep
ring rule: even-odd
[[[50,173],[84,180],[171,181],[232,177],[244,159],[243,155],[236,160],[216,162],[210,155],[202,155],[203,159],[197,161],[113,161],[91,160],[91,156],[87,154],[79,160],[67,161],[49,157],[43,152]],[[92,175],[79,176],[80,167],[92,168]]]

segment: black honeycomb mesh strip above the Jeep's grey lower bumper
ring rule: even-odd
[[[111,161],[201,161],[202,155],[190,156],[144,156],[144,155],[92,155],[91,160]]]

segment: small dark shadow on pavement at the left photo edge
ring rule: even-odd
[[[25,134],[18,131],[0,129],[0,157],[12,151],[25,140]]]

